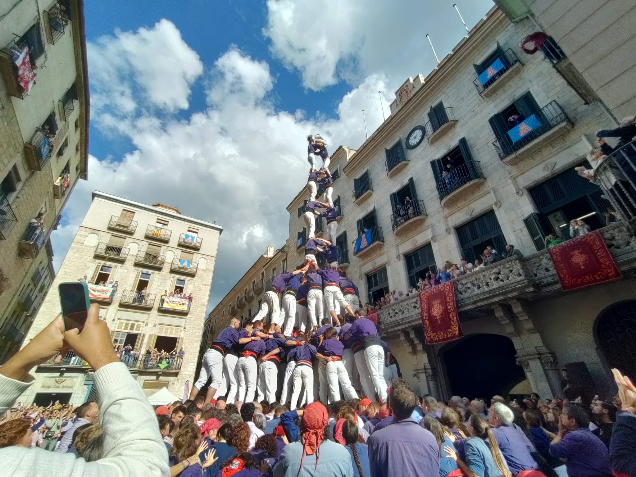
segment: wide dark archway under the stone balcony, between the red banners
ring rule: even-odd
[[[508,336],[472,335],[460,342],[448,343],[439,352],[446,364],[450,390],[458,396],[506,396],[525,380],[516,364],[516,349]]]

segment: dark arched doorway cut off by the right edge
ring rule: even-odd
[[[598,315],[595,338],[610,369],[636,377],[636,300],[605,308]]]

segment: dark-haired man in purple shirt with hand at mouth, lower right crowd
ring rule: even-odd
[[[563,406],[550,455],[565,460],[568,477],[612,476],[607,446],[592,434],[589,425],[590,418],[581,406]]]

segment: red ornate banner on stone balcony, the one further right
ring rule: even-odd
[[[598,230],[550,247],[548,252],[564,291],[621,277]]]

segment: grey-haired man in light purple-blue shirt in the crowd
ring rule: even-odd
[[[474,401],[473,401],[474,402]],[[472,403],[471,403],[472,405]],[[530,441],[522,438],[522,434],[512,427],[515,415],[511,408],[502,403],[494,403],[488,413],[488,424],[492,425],[493,434],[501,450],[511,475],[523,471],[536,470],[539,467],[531,455],[534,448]]]

